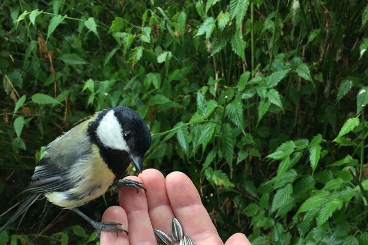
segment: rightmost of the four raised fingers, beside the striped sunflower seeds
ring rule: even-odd
[[[173,172],[166,177],[165,183],[171,207],[183,233],[190,236],[197,245],[223,244],[188,176]]]

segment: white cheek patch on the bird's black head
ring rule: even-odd
[[[123,129],[119,124],[118,118],[114,115],[113,110],[107,112],[101,119],[96,134],[108,148],[130,152],[129,146],[123,138]]]

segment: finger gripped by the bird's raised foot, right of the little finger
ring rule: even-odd
[[[142,182],[136,176],[129,176],[125,179]],[[148,214],[145,192],[140,190],[136,193],[134,188],[121,188],[119,190],[119,203],[127,213],[130,244],[154,244],[156,238]]]

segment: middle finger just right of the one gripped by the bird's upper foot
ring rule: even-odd
[[[156,169],[146,169],[139,177],[147,187],[148,212],[153,229],[171,235],[171,220],[174,213],[166,193],[165,177]]]

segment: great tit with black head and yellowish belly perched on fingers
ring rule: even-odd
[[[113,184],[146,190],[140,182],[121,178],[130,162],[142,172],[142,159],[150,145],[150,132],[133,110],[119,106],[96,113],[47,145],[31,184],[24,190],[30,193],[28,198],[0,232],[44,195],[51,203],[82,216],[99,233],[128,234],[121,224],[96,222],[77,207],[100,197]]]

